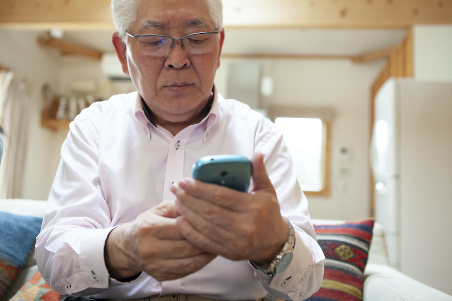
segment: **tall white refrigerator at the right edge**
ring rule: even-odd
[[[452,81],[391,78],[374,114],[375,220],[389,263],[452,294]]]

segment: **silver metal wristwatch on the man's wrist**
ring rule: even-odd
[[[251,265],[257,270],[269,275],[279,275],[282,273],[292,261],[293,248],[295,247],[295,229],[292,224],[287,220],[289,226],[289,235],[287,235],[287,241],[284,244],[281,251],[273,258],[272,263],[267,269],[260,267],[256,262],[250,260]]]

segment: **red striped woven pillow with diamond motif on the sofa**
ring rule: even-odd
[[[325,273],[320,289],[309,301],[361,301],[364,268],[372,240],[374,220],[335,225],[314,225],[325,254]]]

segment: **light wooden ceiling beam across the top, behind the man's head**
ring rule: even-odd
[[[114,29],[110,0],[2,0],[0,29]],[[452,0],[224,0],[230,28],[409,28],[452,24]]]

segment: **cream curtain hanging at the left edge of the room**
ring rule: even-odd
[[[4,153],[0,164],[0,198],[22,197],[30,124],[30,84],[12,71],[0,70],[0,124]]]

